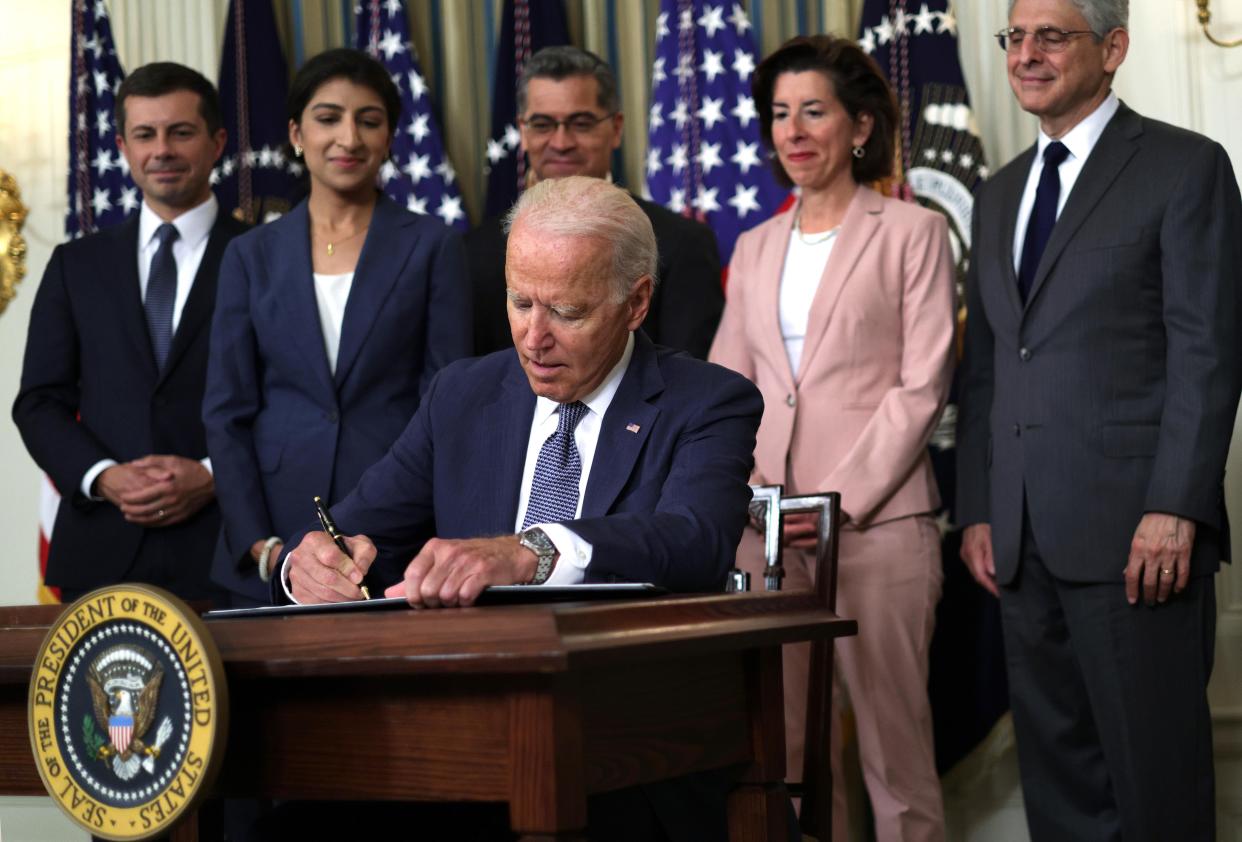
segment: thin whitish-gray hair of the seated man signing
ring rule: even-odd
[[[625,301],[643,276],[656,284],[660,250],[651,220],[633,197],[604,179],[569,175],[527,190],[504,216],[505,233],[522,222],[540,233],[594,237],[612,245],[615,299]]]

